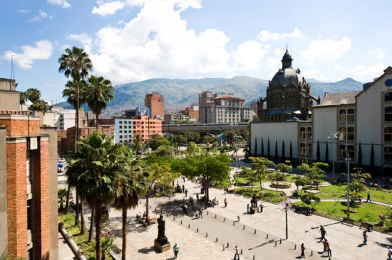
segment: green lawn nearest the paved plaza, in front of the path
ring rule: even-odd
[[[309,205],[303,204],[302,202],[295,202],[294,204],[310,207]],[[372,203],[362,203],[361,205],[357,206],[359,207],[356,207],[354,212],[352,212],[352,207],[350,207],[350,218],[358,222],[368,222],[375,224],[380,220],[378,215],[386,215],[388,212],[388,207]],[[332,201],[320,202],[316,205],[315,209],[318,213],[320,213],[321,216],[343,218],[346,217],[347,204],[345,202]]]

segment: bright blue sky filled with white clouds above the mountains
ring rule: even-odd
[[[372,81],[391,64],[389,0],[1,0],[0,78],[62,101],[65,48],[113,85],[150,78],[270,80],[286,45],[305,78]]]

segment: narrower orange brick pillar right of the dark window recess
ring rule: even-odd
[[[42,137],[41,137],[42,138]],[[49,141],[34,151],[34,259],[49,259]]]

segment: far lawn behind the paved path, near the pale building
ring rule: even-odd
[[[317,195],[319,198],[345,198],[344,194],[346,191],[346,186],[337,186],[337,185],[329,185],[325,187],[319,187],[320,193]],[[386,191],[376,191],[369,190],[370,199],[374,201],[384,202],[388,204],[392,204],[392,193]],[[361,192],[361,195],[364,199],[368,196],[368,191]]]

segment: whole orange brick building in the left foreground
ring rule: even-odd
[[[18,99],[15,80],[0,79],[0,255],[58,259],[56,128]]]

